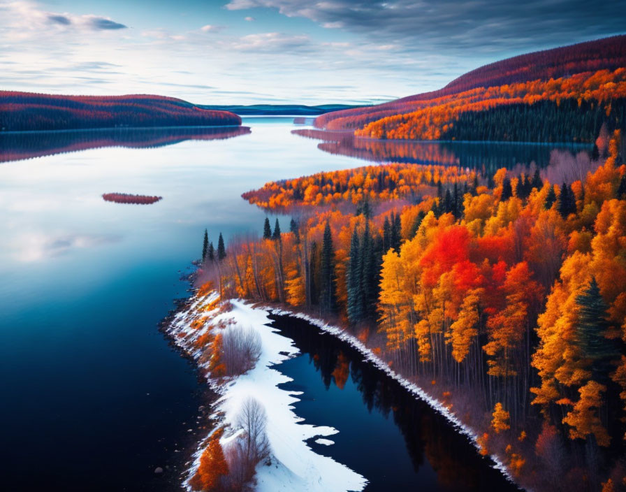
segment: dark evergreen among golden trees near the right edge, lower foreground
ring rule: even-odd
[[[589,287],[576,297],[578,310],[578,324],[576,325],[576,340],[585,359],[592,361],[592,378],[599,383],[606,382],[611,368],[611,361],[618,357],[613,342],[606,338],[609,328],[606,319],[608,306],[600,295],[600,289],[592,277]]]

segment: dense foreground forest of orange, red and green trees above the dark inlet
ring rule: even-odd
[[[263,238],[231,241],[204,269],[223,296],[350,326],[523,486],[613,490],[626,477],[619,138],[584,182],[502,168],[396,210],[364,199],[303,212],[289,232],[266,220]]]

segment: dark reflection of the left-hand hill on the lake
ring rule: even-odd
[[[99,147],[147,148],[184,140],[221,140],[250,133],[248,126],[126,128],[0,133],[0,162]]]

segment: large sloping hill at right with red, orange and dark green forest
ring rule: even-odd
[[[592,141],[624,128],[626,35],[476,68],[434,92],[328,113],[315,125],[370,138]]]

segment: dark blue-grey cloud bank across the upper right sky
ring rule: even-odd
[[[231,0],[230,10],[277,8],[325,27],[407,49],[483,54],[564,45],[626,31],[626,0]],[[471,55],[471,51],[469,54]]]

